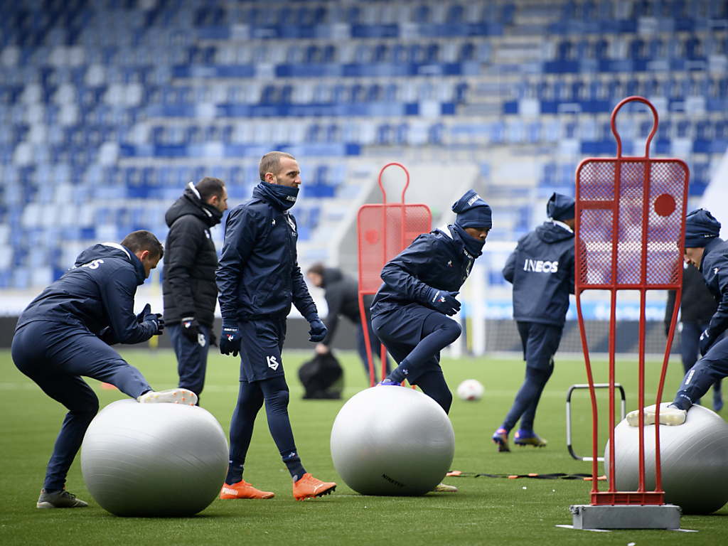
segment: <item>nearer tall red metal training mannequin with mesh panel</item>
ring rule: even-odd
[[[646,144],[645,144],[645,152],[644,157],[622,157],[622,141],[620,139],[620,135],[617,132],[617,126],[615,124],[617,112],[620,111],[620,108],[624,106],[627,103],[630,102],[639,102],[644,103],[646,106],[652,110],[652,114],[654,116],[654,125],[652,127],[652,132],[649,133],[649,137],[647,138]],[[577,301],[577,314],[579,317],[579,332],[581,334],[582,339],[582,350],[584,352],[584,358],[585,358],[585,364],[586,364],[586,370],[587,370],[587,379],[589,381],[589,390],[591,395],[591,403],[592,403],[592,414],[593,414],[593,433],[592,433],[592,447],[593,447],[593,463],[592,463],[592,491],[591,491],[591,504],[592,505],[663,505],[664,502],[664,492],[662,491],[662,477],[661,477],[661,468],[660,468],[660,427],[654,427],[655,430],[655,490],[654,491],[646,491],[645,489],[645,467],[644,467],[644,416],[640,412],[639,416],[639,482],[638,482],[638,491],[617,491],[615,486],[615,480],[614,480],[614,352],[615,352],[615,324],[617,320],[617,314],[616,314],[616,308],[617,308],[617,291],[618,290],[639,290],[640,292],[640,320],[639,320],[639,363],[638,363],[638,407],[644,408],[644,352],[645,352],[645,300],[646,300],[646,292],[647,290],[675,290],[676,291],[676,301],[680,301],[681,298],[681,291],[682,291],[682,275],[681,275],[681,268],[676,268],[675,272],[670,272],[670,278],[668,280],[665,280],[664,278],[661,278],[664,276],[664,267],[662,269],[658,269],[655,266],[655,261],[658,262],[662,259],[662,256],[664,256],[665,252],[662,252],[662,255],[657,256],[657,260],[654,260],[652,262],[648,261],[648,255],[650,255],[651,258],[654,258],[654,254],[652,253],[652,250],[650,250],[650,245],[663,245],[666,247],[668,245],[668,242],[670,240],[667,240],[663,237],[662,240],[657,240],[657,238],[651,239],[649,237],[650,230],[654,230],[654,225],[651,225],[651,214],[654,212],[660,217],[666,218],[665,223],[669,223],[669,229],[674,230],[677,229],[677,222],[679,221],[679,232],[677,234],[676,240],[673,241],[673,245],[677,247],[677,252],[679,253],[678,257],[678,263],[681,263],[682,253],[684,251],[684,233],[685,233],[685,215],[687,212],[687,189],[688,189],[688,183],[689,183],[689,170],[687,165],[685,165],[684,162],[682,162],[680,159],[651,159],[649,157],[649,145],[652,141],[652,138],[654,137],[655,132],[657,132],[657,111],[655,110],[654,106],[649,102],[649,100],[646,100],[642,97],[628,97],[622,100],[617,106],[614,108],[614,111],[612,112],[612,132],[614,132],[614,137],[617,139],[617,157],[616,158],[596,158],[596,159],[585,159],[581,163],[579,163],[579,167],[577,168],[576,173],[576,240],[578,241],[578,248],[576,253],[576,278],[575,278],[575,293],[576,293],[576,301]],[[612,180],[613,186],[607,190],[607,193],[609,191],[612,191],[612,199],[595,199],[594,193],[599,191],[598,189],[592,190],[591,186],[589,186],[589,183],[592,183],[596,178],[595,173],[601,173],[601,171],[606,170],[607,173],[609,173],[609,170],[614,168],[614,177]],[[587,170],[585,172],[585,170]],[[625,203],[629,203],[630,196],[622,192],[622,181],[623,181],[623,173],[625,174],[625,178],[627,179],[627,183],[625,185],[625,192],[629,191],[629,184],[630,179],[629,175],[630,172],[636,171],[639,173],[640,170],[644,170],[644,177],[642,180],[642,186],[641,186],[641,199],[642,199],[642,210],[641,210],[641,239],[637,241],[625,241],[622,240],[622,229],[624,226],[620,223],[620,211],[622,210],[622,199],[624,199]],[[667,173],[665,176],[662,176],[663,174]],[[611,173],[609,173],[611,175]],[[590,176],[588,181],[586,181],[582,188],[582,175],[583,178],[587,179]],[[684,177],[682,180],[680,180],[680,177]],[[682,182],[681,192],[678,192],[677,186]],[[607,188],[609,185],[609,181],[600,179],[597,183],[595,183],[594,188],[598,188],[598,184],[603,183],[603,187]],[[632,187],[638,188],[639,184],[636,181],[636,178],[631,179]],[[665,186],[669,186],[669,184],[672,183],[674,186],[673,193],[669,193],[669,187],[668,190],[665,191],[664,194],[660,194],[657,196],[657,199],[654,199],[654,202],[652,201],[652,188],[656,189],[656,191],[661,191],[660,187],[662,189],[665,189]],[[584,191],[587,191],[587,193],[592,192],[592,195],[585,196],[582,195]],[[668,195],[668,197],[663,197],[663,195]],[[599,196],[604,197],[604,196]],[[670,202],[670,199],[673,199],[672,202]],[[660,201],[660,203],[658,203]],[[633,200],[634,202],[634,200]],[[667,203],[667,207],[663,206]],[[681,207],[675,206],[672,210],[670,210],[670,203],[671,205],[676,205],[678,203],[681,203]],[[625,205],[626,213],[635,213],[637,210],[637,207],[634,206],[632,203],[632,208],[630,209],[628,205]],[[597,212],[598,211],[598,212]],[[679,213],[679,217],[673,216],[675,214]],[[608,282],[593,282],[590,281],[588,277],[587,272],[587,260],[591,256],[590,251],[587,248],[587,242],[585,242],[582,239],[582,235],[585,233],[585,230],[587,230],[587,236],[595,233],[597,230],[595,229],[593,232],[589,232],[589,229],[593,228],[594,226],[584,223],[582,224],[582,215],[587,215],[588,218],[596,219],[596,221],[593,221],[593,223],[596,225],[598,222],[603,222],[604,219],[608,218],[611,215],[612,220],[612,233],[611,237],[609,237],[609,240],[601,241],[605,245],[609,244],[611,245],[611,268],[609,269],[609,281]],[[590,216],[591,215],[591,216]],[[601,215],[601,219],[600,219]],[[652,216],[652,219],[654,221],[654,216]],[[625,224],[630,221],[630,218],[625,220]],[[603,225],[603,224],[602,224]],[[637,226],[637,223],[631,223],[630,227],[634,228]],[[620,243],[622,244],[620,246]],[[595,246],[598,246],[599,242],[596,242]],[[628,245],[632,245],[633,247],[637,247],[640,250],[641,257],[639,262],[639,280],[637,282],[624,282],[625,279],[623,277],[630,277],[630,272],[627,271],[627,267],[625,267],[624,264],[622,264],[622,258],[624,258],[625,261],[627,261],[628,251],[625,250],[625,248],[628,247]],[[666,247],[667,248],[667,247]],[[606,250],[604,253],[606,254],[609,252],[609,250]],[[673,248],[673,253],[675,252]],[[634,267],[635,264],[629,264],[633,266],[633,275],[637,273],[637,268]],[[625,269],[625,271],[622,271],[622,269]],[[601,270],[602,272],[606,272],[606,267]],[[620,277],[622,277],[620,279]],[[657,280],[654,278],[652,281],[649,277],[660,277]],[[620,282],[620,280],[622,282]],[[599,491],[598,489],[598,480],[596,479],[598,477],[598,468],[597,468],[597,440],[598,440],[598,429],[597,429],[597,406],[596,406],[596,394],[594,390],[594,382],[593,382],[593,376],[592,376],[592,370],[589,360],[589,349],[587,347],[587,339],[586,339],[586,332],[585,332],[585,326],[584,326],[584,318],[582,316],[582,307],[581,307],[581,294],[584,290],[609,290],[611,292],[611,312],[609,317],[609,490],[608,491]],[[678,317],[678,310],[679,306],[676,305],[675,309],[673,310],[673,317],[670,322],[670,331],[668,333],[668,342],[665,346],[665,357],[662,361],[662,373],[660,374],[660,384],[657,389],[657,400],[655,403],[657,404],[657,415],[655,416],[655,419],[657,422],[659,422],[659,410],[660,410],[660,400],[662,399],[662,388],[665,384],[665,374],[667,372],[667,366],[668,366],[668,358],[670,356],[670,347],[672,346],[672,339],[673,334],[675,331],[675,325]]]

